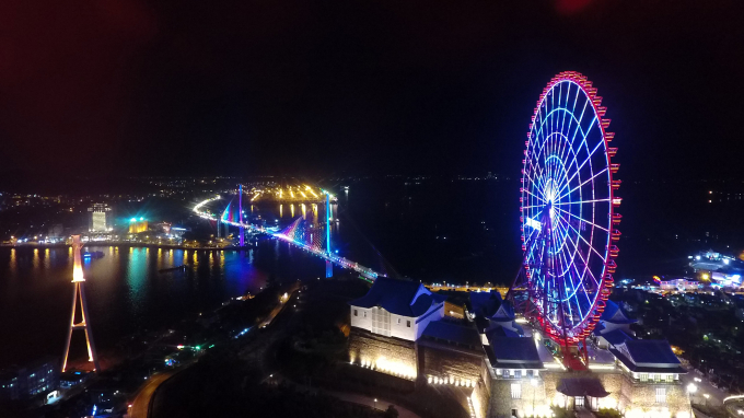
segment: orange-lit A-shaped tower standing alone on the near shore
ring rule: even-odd
[[[85,278],[83,277],[83,265],[80,259],[80,248],[83,244],[80,243],[80,235],[72,235],[72,253],[74,254],[74,267],[72,268],[72,283],[74,291],[72,292],[72,314],[70,315],[70,329],[67,333],[67,344],[65,345],[65,356],[62,362],[62,372],[67,369],[67,358],[70,355],[70,340],[72,339],[72,332],[75,329],[85,330],[85,341],[88,342],[88,361],[93,362],[94,371],[101,370],[98,367],[98,356],[95,353],[95,346],[93,345],[93,332],[91,324],[88,322],[90,315],[88,313],[88,302],[85,302]],[[78,301],[80,300],[81,321],[75,324],[74,317],[78,311]]]

